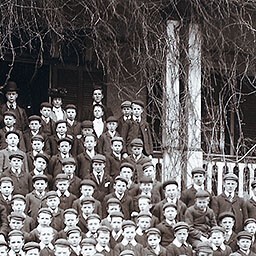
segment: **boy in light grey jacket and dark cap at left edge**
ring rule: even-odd
[[[10,165],[10,155],[19,154],[23,157],[23,169],[25,172],[28,172],[28,162],[26,153],[18,148],[20,135],[16,131],[8,131],[5,134],[5,140],[7,143],[7,147],[5,149],[0,150],[0,169],[2,171],[7,170]]]

